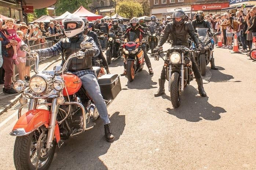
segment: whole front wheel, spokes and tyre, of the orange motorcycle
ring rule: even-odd
[[[46,128],[39,128],[27,136],[16,138],[14,165],[17,170],[35,170],[37,166],[38,170],[48,169],[54,156],[56,142],[53,141],[50,149],[46,148],[47,132]]]

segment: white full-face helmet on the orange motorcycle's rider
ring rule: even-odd
[[[74,23],[76,24],[76,27],[67,27],[67,24],[69,23]],[[75,15],[67,15],[63,20],[62,20],[62,24],[64,26],[64,33],[66,35],[67,38],[72,38],[78,34],[83,33],[84,31],[84,21],[83,19],[81,19],[79,16],[75,16]]]

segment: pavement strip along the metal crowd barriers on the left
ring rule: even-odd
[[[51,65],[56,63],[56,61],[61,60],[60,56],[51,57],[47,60],[42,61],[42,63],[39,63],[39,70],[45,70],[49,68]],[[34,75],[34,71],[30,71],[30,76]],[[18,80],[18,76],[16,77]],[[6,112],[8,109],[10,109],[16,102],[19,101],[19,98],[21,97],[20,93],[17,94],[4,94],[3,92],[4,85],[0,85],[0,115]]]

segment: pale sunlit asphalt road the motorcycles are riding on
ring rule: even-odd
[[[164,49],[168,44],[164,45]],[[122,91],[108,108],[115,141],[105,141],[102,121],[70,138],[56,150],[50,170],[255,170],[256,63],[243,54],[215,49],[219,70],[207,67],[200,97],[195,80],[186,86],[182,103],[173,109],[166,94],[154,97],[163,61],[150,58],[134,82],[120,77]],[[111,73],[121,74],[122,58]],[[0,116],[0,169],[14,170],[17,108]]]

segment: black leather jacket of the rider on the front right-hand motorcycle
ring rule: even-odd
[[[190,22],[185,21],[180,26],[176,26],[173,21],[169,22],[163,33],[160,35],[158,45],[162,46],[167,41],[168,36],[171,35],[172,46],[185,45],[189,48],[189,36],[193,39],[196,46],[199,46],[199,39],[195,30]]]

